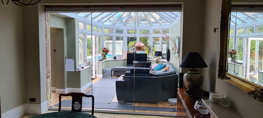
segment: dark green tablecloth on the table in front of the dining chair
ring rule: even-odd
[[[81,112],[52,112],[40,114],[30,118],[97,118],[91,114]]]

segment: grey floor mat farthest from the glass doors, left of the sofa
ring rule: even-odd
[[[115,82],[118,78],[101,78],[92,85],[93,88],[115,88]],[[90,86],[91,87],[91,86]]]

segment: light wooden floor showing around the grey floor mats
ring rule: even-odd
[[[99,81],[101,78],[96,78],[92,81],[92,83],[96,83],[97,81]],[[87,88],[85,89],[82,93],[86,93],[90,90],[91,88]],[[67,97],[63,97],[61,98],[62,100],[72,100],[72,98],[70,96]],[[58,106],[54,106],[55,104],[57,104],[59,102],[59,94],[56,94],[56,92],[51,92],[51,105],[52,108],[58,108]],[[117,96],[115,95],[114,98],[112,99],[111,102],[118,102],[117,100]],[[149,107],[169,107],[169,108],[176,108],[175,106],[170,106],[171,104],[169,104],[167,101],[161,102],[159,104],[154,104],[154,103],[134,103],[135,106],[149,106]],[[61,107],[61,108],[66,108],[66,109],[71,109],[71,107]],[[88,109],[90,110],[91,108],[82,108],[82,109]],[[138,112],[138,113],[155,113],[155,114],[176,114],[176,112],[160,112],[160,111],[139,111],[139,110],[119,110],[119,109],[96,109],[95,110],[102,110],[102,111],[117,111],[117,112]]]

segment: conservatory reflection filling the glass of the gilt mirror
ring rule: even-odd
[[[231,12],[228,72],[263,84],[263,13]]]

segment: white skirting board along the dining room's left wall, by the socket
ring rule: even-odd
[[[14,109],[1,114],[1,118],[20,118],[24,115],[28,106],[29,104],[17,106]],[[41,104],[30,104],[26,114],[44,114],[46,111],[48,111],[48,102],[44,101]]]

